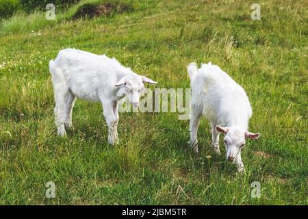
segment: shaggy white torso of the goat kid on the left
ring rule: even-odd
[[[55,83],[66,83],[73,94],[93,101],[114,92],[117,74],[129,70],[106,55],[77,49],[61,50],[49,65]]]

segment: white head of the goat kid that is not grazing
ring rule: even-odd
[[[129,101],[133,104],[134,108],[138,108],[139,99],[142,90],[144,89],[144,83],[157,83],[145,76],[129,75],[122,77],[120,81],[116,83],[116,87],[123,86],[124,94],[129,98]]]

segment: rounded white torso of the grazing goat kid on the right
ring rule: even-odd
[[[245,90],[211,63],[203,64],[192,81],[192,104],[202,105],[203,114],[209,120],[224,120],[225,115],[231,114],[250,118],[252,114]]]

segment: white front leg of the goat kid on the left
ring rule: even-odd
[[[114,145],[118,142],[118,120],[114,115],[114,103],[103,100],[103,114],[108,125],[108,143]]]

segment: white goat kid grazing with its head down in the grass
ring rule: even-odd
[[[248,132],[248,121],[252,116],[251,104],[244,89],[218,66],[196,63],[188,65],[192,87],[190,146],[198,153],[197,132],[202,114],[211,123],[211,145],[219,150],[219,133],[224,133],[227,160],[238,165],[244,172],[241,149],[246,138],[259,138],[259,133]],[[220,127],[220,125],[224,127]]]

